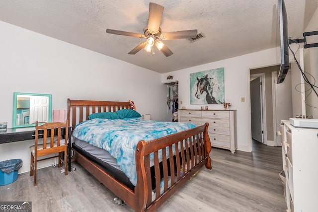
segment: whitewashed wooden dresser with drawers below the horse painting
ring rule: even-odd
[[[236,110],[178,110],[179,122],[196,125],[209,123],[209,137],[214,147],[231,150],[238,148]]]

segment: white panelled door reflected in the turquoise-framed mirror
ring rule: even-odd
[[[30,96],[30,124],[38,122],[49,122],[49,97]]]

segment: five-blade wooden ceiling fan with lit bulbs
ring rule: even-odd
[[[183,39],[183,38],[196,38],[198,30],[183,30],[176,32],[162,32],[160,26],[163,6],[150,2],[149,4],[149,19],[148,26],[144,28],[144,34],[126,32],[114,29],[106,29],[107,33],[116,34],[116,35],[126,35],[138,38],[147,38],[146,41],[139,44],[136,48],[130,51],[129,55],[135,55],[142,49],[145,49],[147,52],[154,52],[154,46],[156,46],[160,52],[162,52],[166,57],[169,57],[173,53],[171,50],[159,39],[162,40],[172,40],[172,39]]]

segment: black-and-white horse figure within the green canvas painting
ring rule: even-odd
[[[195,93],[195,97],[199,99],[202,96],[202,93],[206,92],[206,101],[208,104],[218,104],[213,94],[216,91],[220,91],[220,86],[214,78],[209,78],[208,74],[205,77],[198,78],[197,83],[197,92]],[[214,92],[214,93],[213,93]]]

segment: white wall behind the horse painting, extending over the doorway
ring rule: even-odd
[[[200,109],[205,105],[190,105],[190,73],[224,67],[225,102],[231,102],[231,109],[237,110],[238,150],[251,151],[249,70],[276,65],[277,50],[268,49],[252,54],[230,58],[214,63],[162,74],[162,82],[168,75],[179,81],[179,108]],[[241,102],[241,97],[245,102]],[[182,101],[183,104],[180,104]],[[209,109],[224,109],[223,104],[209,104]]]

